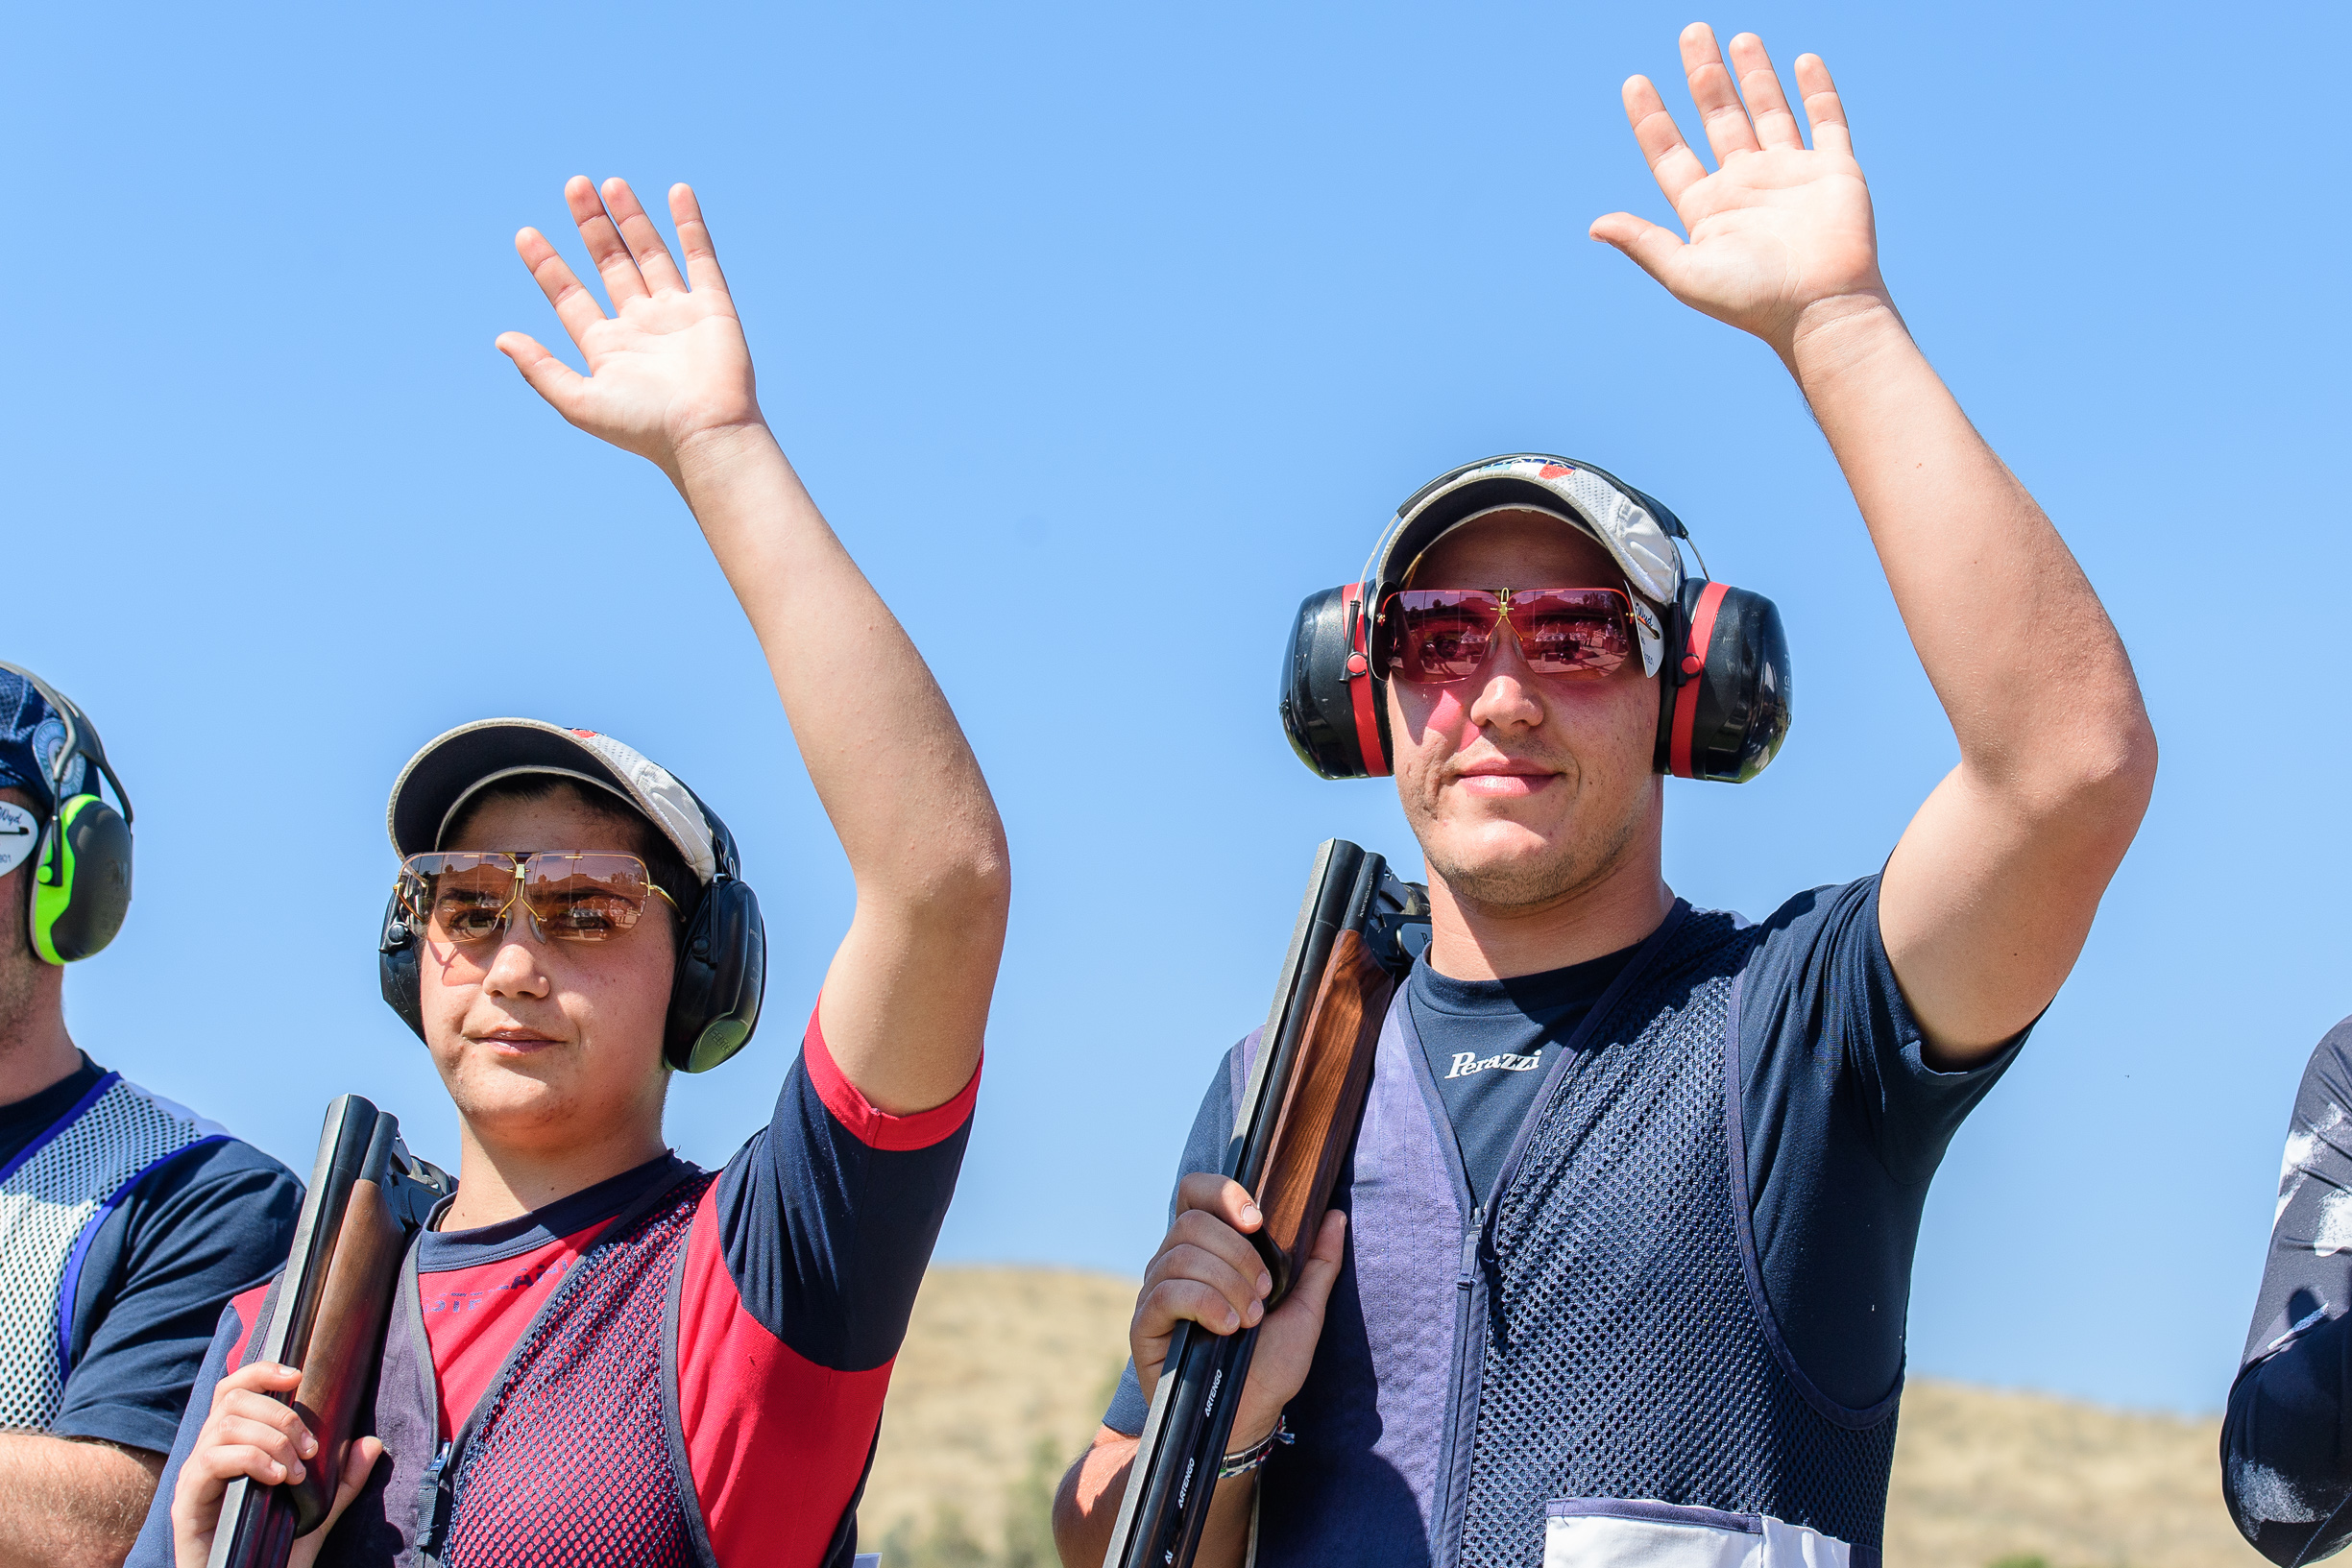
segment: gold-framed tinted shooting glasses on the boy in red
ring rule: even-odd
[[[637,856],[602,849],[459,849],[400,863],[400,907],[435,943],[487,943],[522,905],[532,931],[562,943],[609,943],[637,926],[649,898],[677,900]]]

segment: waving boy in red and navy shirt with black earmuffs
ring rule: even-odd
[[[564,190],[612,296],[517,249],[588,360],[499,348],[663,468],[767,654],[856,877],[774,1119],[703,1173],[673,1070],[760,1006],[757,903],[717,813],[628,745],[487,719],[393,788],[383,990],[456,1100],[456,1194],[416,1239],[336,1516],[294,1563],[840,1563],[891,1359],[969,1133],[1004,940],[1004,835],[955,715],[760,418],[694,195],[684,273],[623,181]],[[691,282],[691,287],[689,287]],[[802,933],[793,933],[800,940]],[[235,1305],[136,1563],[205,1561],[238,1476],[318,1462]]]

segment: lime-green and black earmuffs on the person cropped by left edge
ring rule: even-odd
[[[108,766],[96,726],[73,698],[21,665],[0,663],[0,670],[38,691],[66,731],[45,762],[52,806],[33,875],[26,877],[24,931],[42,964],[75,964],[115,940],[129,914],[132,797]],[[115,788],[122,811],[99,799],[92,769]],[[82,790],[85,783],[89,790]]]

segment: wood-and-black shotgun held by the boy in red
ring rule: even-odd
[[[336,1095],[327,1107],[294,1251],[261,1328],[261,1359],[301,1373],[294,1408],[318,1455],[299,1483],[230,1481],[205,1568],[285,1568],[294,1537],[327,1519],[360,1399],[374,1382],[400,1258],[454,1190],[445,1171],[409,1154],[390,1112],[360,1095]]]

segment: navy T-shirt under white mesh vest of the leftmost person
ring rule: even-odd
[[[0,1105],[0,1166],[106,1072],[87,1056],[64,1081]],[[249,1143],[200,1143],[141,1175],[99,1220],[66,1328],[56,1436],[167,1453],[221,1309],[285,1267],[301,1182]]]

